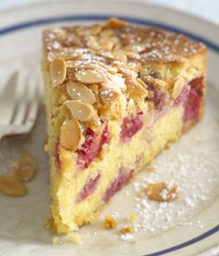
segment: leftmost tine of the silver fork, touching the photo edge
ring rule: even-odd
[[[17,86],[18,72],[14,72],[7,80],[4,91],[0,98],[1,118],[0,125],[9,124],[13,113],[15,112],[15,88]]]

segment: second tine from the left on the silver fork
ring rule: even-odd
[[[28,93],[29,93],[28,91],[31,89],[30,89],[30,84],[26,74],[20,74],[17,88],[18,88],[17,90],[18,92],[16,93],[16,97],[17,97],[16,110],[11,119],[11,123],[13,125],[21,125],[27,112]]]

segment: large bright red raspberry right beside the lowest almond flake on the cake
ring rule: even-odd
[[[99,155],[103,148],[103,144],[109,142],[110,135],[108,126],[105,125],[103,132],[100,135],[88,129],[85,135],[85,142],[82,144],[80,149],[77,149],[77,161],[76,164],[80,168],[87,168],[95,157]]]

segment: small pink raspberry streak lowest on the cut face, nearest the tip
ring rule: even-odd
[[[95,178],[90,178],[89,181],[85,184],[84,188],[82,189],[81,192],[77,195],[76,198],[76,203],[80,203],[83,200],[85,200],[90,194],[95,192],[99,180],[101,178],[101,175],[98,174]]]

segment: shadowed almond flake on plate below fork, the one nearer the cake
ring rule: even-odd
[[[27,181],[34,178],[35,160],[30,155],[22,155],[12,169],[14,178],[21,181]]]

